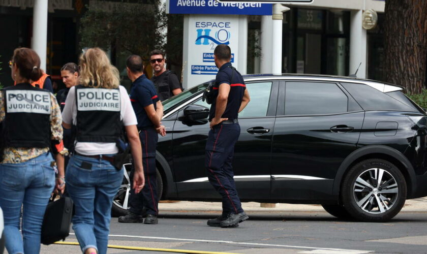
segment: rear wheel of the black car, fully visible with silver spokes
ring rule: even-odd
[[[369,159],[353,166],[342,181],[341,200],[355,219],[381,222],[393,218],[406,201],[402,172],[382,159]]]

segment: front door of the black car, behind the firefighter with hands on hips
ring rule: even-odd
[[[278,82],[247,82],[251,96],[239,114],[240,136],[235,145],[233,170],[242,200],[268,198],[271,138],[277,106]],[[191,104],[210,107],[201,98]],[[173,169],[178,196],[189,200],[219,199],[205,168],[207,119],[189,121],[182,110],[173,127]]]

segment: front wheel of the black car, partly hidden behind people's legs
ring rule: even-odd
[[[132,164],[127,163],[123,165],[124,172],[126,175],[123,176],[123,181],[117,191],[117,194],[113,198],[113,205],[111,207],[111,217],[119,217],[126,215],[129,209],[129,196],[131,192],[131,183],[129,174],[131,173]],[[160,200],[163,194],[163,180],[162,175],[156,168],[157,176],[157,197]],[[158,201],[159,201],[158,200]]]

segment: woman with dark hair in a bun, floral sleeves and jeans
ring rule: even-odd
[[[16,85],[0,91],[0,206],[9,253],[39,253],[50,194],[64,192],[61,114],[52,93],[31,83],[42,76],[40,58],[17,48],[9,62]],[[22,208],[22,212],[21,212]],[[22,217],[22,235],[19,231]]]

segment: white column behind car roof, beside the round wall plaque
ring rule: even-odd
[[[366,78],[367,67],[367,33],[362,27],[362,10],[351,11],[350,14],[350,70],[349,74],[357,72],[358,78]]]

